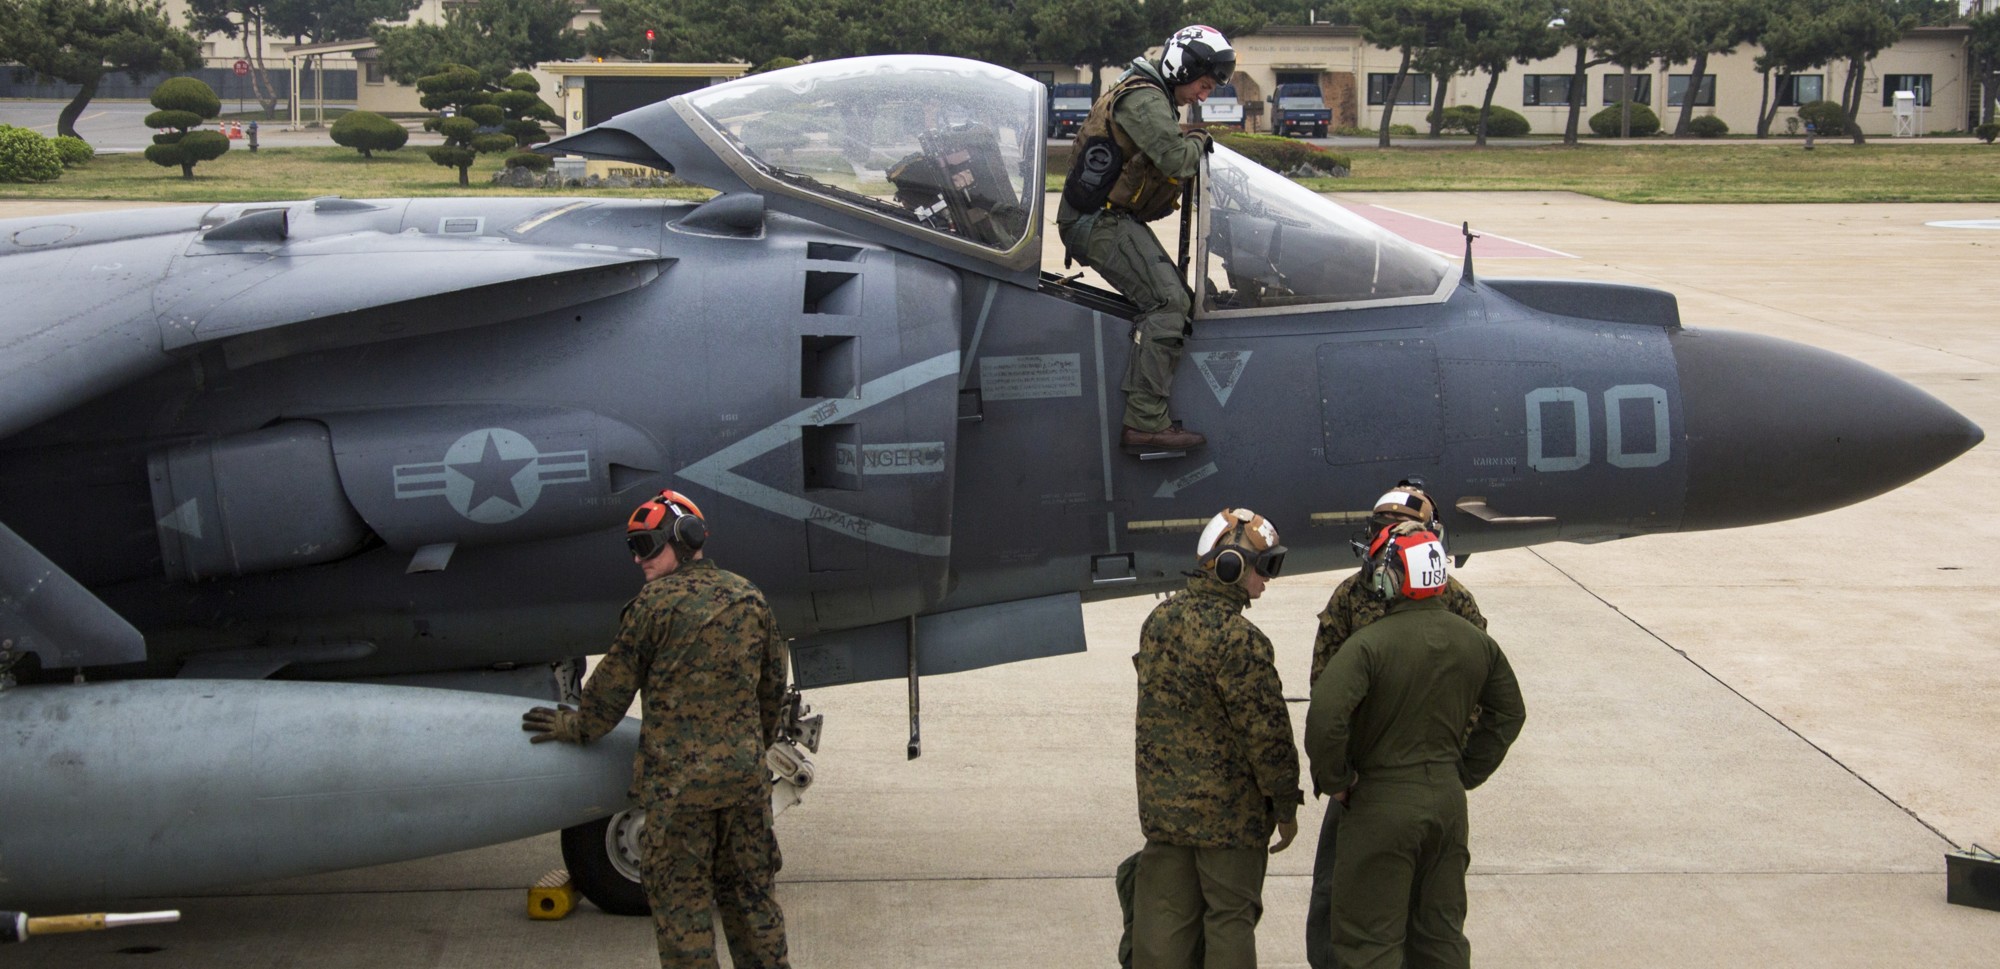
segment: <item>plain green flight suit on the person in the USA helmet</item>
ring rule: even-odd
[[[1500,767],[1524,719],[1500,645],[1442,597],[1392,603],[1334,653],[1312,685],[1306,757],[1314,785],[1348,791],[1334,851],[1340,969],[1472,963],[1466,791]]]

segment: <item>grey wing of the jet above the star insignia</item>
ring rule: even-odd
[[[0,222],[0,438],[220,342],[230,366],[486,326],[652,282],[654,250],[364,228],[286,206]],[[68,280],[56,286],[50,280]]]

